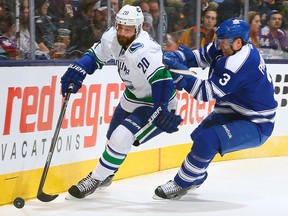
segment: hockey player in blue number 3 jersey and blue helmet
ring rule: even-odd
[[[265,62],[250,43],[249,25],[239,18],[223,22],[217,40],[199,50],[183,45],[164,53],[169,68],[210,67],[209,78],[172,73],[177,89],[196,100],[216,100],[214,111],[192,132],[193,146],[173,180],[158,186],[156,197],[179,198],[199,187],[217,153],[221,156],[262,145],[274,127],[277,102]]]

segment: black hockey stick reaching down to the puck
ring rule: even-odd
[[[51,143],[51,146],[50,146],[50,149],[49,149],[49,153],[48,153],[48,156],[47,156],[47,159],[46,159],[45,167],[44,167],[44,170],[43,170],[43,173],[42,173],[42,177],[41,177],[41,181],[40,181],[40,184],[39,184],[39,188],[38,188],[38,192],[37,192],[37,199],[42,201],[42,202],[50,202],[50,201],[56,199],[58,197],[58,195],[59,195],[59,194],[55,194],[55,195],[46,194],[46,193],[43,192],[43,187],[44,187],[44,183],[45,183],[45,180],[46,180],[46,177],[47,177],[48,169],[49,169],[49,166],[50,166],[50,163],[51,163],[52,155],[53,155],[56,143],[57,143],[58,135],[59,135],[59,132],[60,132],[60,127],[61,127],[61,124],[62,124],[62,121],[63,121],[63,118],[64,118],[64,114],[66,112],[67,104],[68,104],[68,101],[69,101],[73,86],[74,86],[74,84],[71,83],[69,85],[69,88],[68,88],[67,92],[66,92],[64,103],[63,103],[62,108],[61,108],[61,112],[60,112],[60,115],[59,115],[59,118],[58,118],[56,129],[55,129],[55,132],[54,132],[54,135],[53,135],[53,138],[52,138],[52,143]]]

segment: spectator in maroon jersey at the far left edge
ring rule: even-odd
[[[10,60],[16,59],[16,43],[15,43],[15,16],[7,13],[5,17],[0,18],[0,59]]]

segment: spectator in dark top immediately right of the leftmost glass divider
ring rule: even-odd
[[[51,22],[47,15],[49,7],[48,0],[36,0],[35,8],[35,37],[39,49],[43,52],[50,53],[52,56],[59,50],[64,49],[63,45],[56,45],[57,28]]]

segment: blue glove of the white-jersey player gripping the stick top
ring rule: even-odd
[[[72,93],[76,93],[82,87],[82,83],[85,77],[86,71],[83,69],[81,64],[70,64],[65,74],[61,77],[62,96],[65,97],[70,83],[74,84]]]

